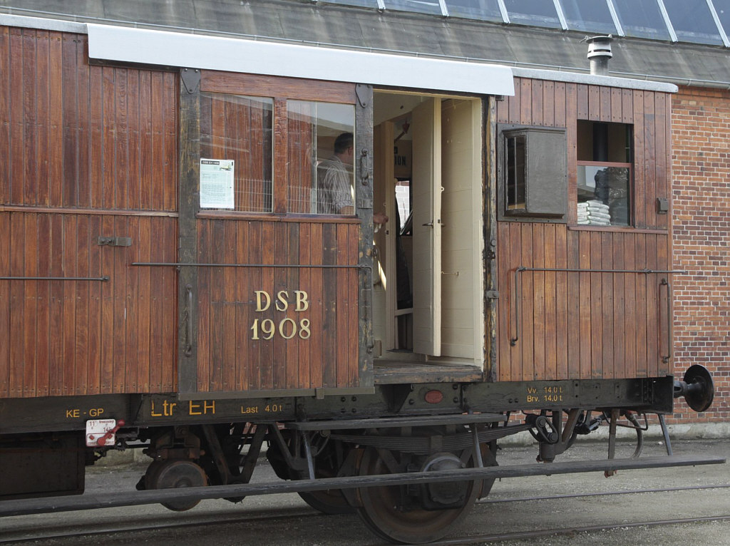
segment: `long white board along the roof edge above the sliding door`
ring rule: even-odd
[[[120,26],[88,26],[89,57],[107,61],[391,85],[434,91],[513,95],[507,66],[407,55],[257,42]]]

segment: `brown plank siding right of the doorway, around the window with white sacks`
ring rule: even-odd
[[[667,215],[670,97],[594,85],[515,80],[515,96],[497,103],[497,123],[565,127],[567,223],[498,224],[499,380],[648,377],[671,373],[667,274],[598,272],[672,269]],[[631,228],[576,225],[577,120],[634,128]],[[535,269],[593,272],[515,273]],[[515,292],[515,280],[519,285]],[[510,340],[517,337],[515,345]]]

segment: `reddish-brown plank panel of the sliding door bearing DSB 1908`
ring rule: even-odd
[[[198,258],[354,266],[358,227],[201,218]],[[357,387],[357,282],[355,267],[199,268],[198,391]]]

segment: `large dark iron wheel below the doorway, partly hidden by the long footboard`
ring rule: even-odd
[[[437,457],[438,455],[438,457]],[[450,453],[432,455],[425,466],[431,469],[447,469],[456,467],[458,458]],[[437,458],[439,458],[437,461]],[[373,447],[367,447],[361,455],[358,465],[361,476],[372,474],[390,474],[387,464]],[[454,487],[456,485],[456,488]],[[461,502],[455,507],[439,510],[426,510],[409,501],[406,488],[399,485],[384,485],[358,490],[361,507],[358,515],[366,526],[379,537],[391,542],[404,544],[423,544],[433,542],[447,534],[471,510],[480,484],[464,482],[463,484],[432,484],[427,487],[431,501],[450,503],[459,497]]]

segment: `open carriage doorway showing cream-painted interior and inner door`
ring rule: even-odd
[[[483,365],[481,101],[374,97],[376,355]]]

